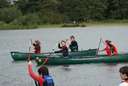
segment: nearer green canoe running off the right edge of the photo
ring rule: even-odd
[[[86,57],[86,56],[85,56]],[[87,64],[87,63],[121,63],[128,62],[128,53],[119,54],[115,56],[89,56],[90,58],[77,57],[77,58],[48,58],[46,65],[66,65],[66,64]],[[37,65],[42,65],[45,58],[37,61]]]

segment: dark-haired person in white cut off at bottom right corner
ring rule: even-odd
[[[122,82],[119,86],[128,86],[128,66],[123,66],[119,69]]]

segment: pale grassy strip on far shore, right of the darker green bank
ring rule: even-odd
[[[66,24],[45,24],[45,25],[39,25],[39,28],[63,28],[63,27],[88,27],[88,26],[121,26],[121,25],[127,25],[128,26],[128,20],[104,20],[104,21],[88,21],[88,22],[82,22],[80,24],[72,24],[72,23],[66,23]]]

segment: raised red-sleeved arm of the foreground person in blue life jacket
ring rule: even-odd
[[[42,77],[40,75],[38,75],[37,73],[33,72],[33,70],[32,70],[32,62],[31,61],[29,61],[29,63],[28,63],[28,73],[29,73],[29,75],[34,80],[38,81],[39,84],[42,84],[43,83]]]

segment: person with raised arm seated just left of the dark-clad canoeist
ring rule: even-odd
[[[62,40],[60,43],[58,43],[58,48],[60,50],[55,51],[55,53],[62,53],[64,57],[68,56],[68,48],[66,46],[66,42]]]

